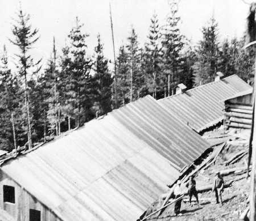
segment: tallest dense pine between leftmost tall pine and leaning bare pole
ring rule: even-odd
[[[74,113],[76,114],[76,125],[80,121],[86,121],[86,110],[90,107],[88,96],[88,83],[90,82],[90,69],[92,60],[87,57],[86,37],[88,34],[81,33],[82,25],[76,18],[76,27],[72,28],[68,37],[71,41],[71,92],[75,95]],[[81,119],[82,117],[82,119]]]

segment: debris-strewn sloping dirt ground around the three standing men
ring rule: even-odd
[[[217,133],[218,134],[218,133]],[[218,134],[220,135],[220,133]],[[221,136],[221,135],[220,135]],[[210,134],[208,134],[208,138]],[[214,137],[218,137],[216,132],[214,133]],[[242,138],[241,138],[242,137]],[[237,152],[241,150],[247,150],[247,142],[248,142],[248,134],[241,133],[240,134],[232,134],[227,139],[226,148],[222,151],[222,153],[218,156],[216,163],[210,165],[209,168],[205,169],[205,171],[200,171],[196,177],[197,186],[205,186],[213,183],[214,174],[216,171],[220,171],[223,169],[235,168],[235,167],[246,167],[247,163],[247,154],[243,156],[241,160],[232,165],[225,165],[226,160],[232,158]],[[211,138],[209,138],[211,139]],[[216,138],[220,139],[220,138]],[[218,146],[216,146],[218,148]],[[174,215],[174,205],[167,207],[164,212],[157,217],[153,215],[151,218],[147,220],[154,221],[180,221],[180,220],[191,220],[191,221],[203,221],[203,220],[240,220],[240,215],[246,209],[247,196],[249,193],[249,179],[246,179],[246,174],[243,173],[241,175],[228,175],[224,176],[224,182],[228,182],[230,180],[237,179],[234,181],[229,188],[224,189],[224,193],[222,193],[222,199],[224,201],[223,206],[221,204],[216,204],[214,192],[205,192],[199,194],[199,205],[196,205],[196,202],[192,202],[192,206],[189,206],[188,197],[185,196],[183,202],[181,203],[181,215]],[[195,198],[192,197],[192,200]],[[163,201],[156,203],[154,206],[154,211],[162,205]],[[157,213],[158,214],[158,213]],[[147,213],[148,215],[148,213]]]

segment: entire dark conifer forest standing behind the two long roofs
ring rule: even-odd
[[[250,84],[255,52],[242,49],[245,37],[220,36],[212,16],[201,27],[201,40],[191,44],[180,31],[178,10],[170,6],[164,24],[152,14],[143,44],[137,30],[127,28],[129,37],[116,48],[115,59],[105,57],[104,45],[112,42],[102,42],[100,34],[90,54],[90,33],[82,31],[80,18],[72,18],[75,25],[65,45],[56,50],[52,36],[52,52],[43,66],[31,55],[40,27],[20,7],[10,24],[12,35],[6,39],[18,53],[10,54],[6,46],[1,49],[0,149],[30,149],[140,97],[161,99],[174,95],[177,84],[189,89],[212,82],[218,71],[237,74]]]

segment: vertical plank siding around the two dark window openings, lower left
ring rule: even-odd
[[[14,186],[15,203],[3,202],[3,185]],[[35,186],[36,188],[36,186]],[[46,193],[47,194],[47,193]],[[24,188],[10,179],[0,169],[0,208],[5,210],[16,221],[29,221],[30,209],[39,210],[41,221],[61,221],[46,206],[40,203],[35,197],[28,193]]]

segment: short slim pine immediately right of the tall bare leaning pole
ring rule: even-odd
[[[125,46],[119,48],[117,57],[117,100],[118,107],[129,103],[130,100],[130,70],[129,57]]]

